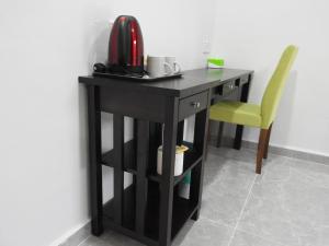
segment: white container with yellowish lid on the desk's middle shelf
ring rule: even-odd
[[[174,176],[179,176],[183,173],[184,152],[188,150],[189,148],[185,145],[175,147]],[[157,173],[159,175],[162,174],[162,145],[158,149]]]

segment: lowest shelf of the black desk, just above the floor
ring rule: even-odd
[[[157,245],[159,239],[159,207],[160,192],[158,186],[149,186],[148,204],[146,213],[145,233],[138,235],[135,232],[135,186],[131,185],[124,192],[124,211],[123,211],[123,224],[117,225],[113,220],[114,202],[110,200],[104,204],[104,224],[109,224],[112,230],[120,231],[128,236],[132,236],[138,241],[147,243],[148,245]],[[197,204],[193,203],[189,199],[184,199],[174,195],[173,198],[173,211],[172,211],[172,239],[183,227],[185,222],[191,219],[193,213],[197,210]]]

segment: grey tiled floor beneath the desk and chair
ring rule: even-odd
[[[209,149],[201,219],[173,245],[329,245],[329,165],[270,154],[256,175],[254,157],[251,150]],[[79,246],[141,244],[109,231]]]

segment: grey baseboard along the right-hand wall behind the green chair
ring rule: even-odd
[[[216,136],[211,136],[209,144],[216,145],[215,144],[216,139],[217,139]],[[222,145],[231,148],[232,139],[229,137],[224,137],[222,140]],[[242,140],[242,148],[257,150],[257,147],[258,147],[257,142]],[[327,155],[315,154],[315,153],[310,153],[310,152],[306,152],[306,151],[292,150],[292,149],[287,149],[287,148],[283,148],[283,147],[274,147],[271,144],[269,147],[269,152],[272,154],[277,154],[277,155],[283,155],[283,156],[294,157],[294,159],[300,159],[303,161],[317,162],[317,163],[329,165],[329,156],[327,156]]]

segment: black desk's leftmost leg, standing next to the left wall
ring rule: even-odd
[[[101,110],[99,87],[88,86],[89,159],[90,159],[90,206],[91,232],[103,233],[103,191],[101,165]]]

